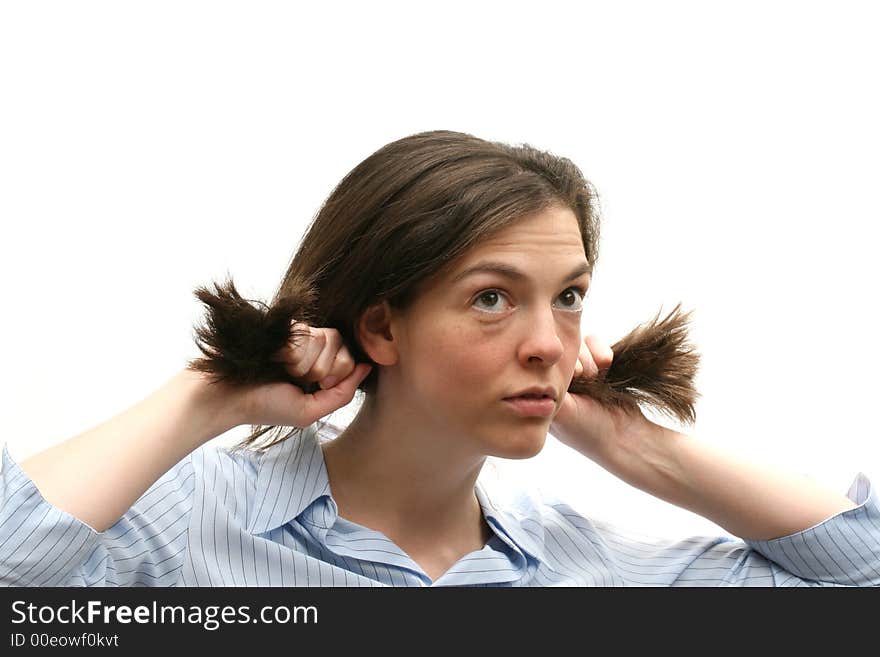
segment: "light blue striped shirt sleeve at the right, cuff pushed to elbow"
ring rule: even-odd
[[[858,506],[769,540],[662,540],[602,521],[591,523],[592,539],[634,586],[880,586],[880,505],[867,475],[847,497]]]

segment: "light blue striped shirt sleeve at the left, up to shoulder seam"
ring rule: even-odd
[[[160,477],[104,532],[47,502],[5,444],[2,462],[0,585],[176,584],[193,504],[191,456]]]

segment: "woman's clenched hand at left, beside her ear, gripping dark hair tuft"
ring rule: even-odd
[[[308,330],[298,345],[289,342],[274,354],[273,361],[284,363],[291,377],[319,382],[320,390],[307,394],[293,383],[264,383],[245,390],[240,400],[242,424],[307,427],[342,408],[353,398],[358,385],[372,365],[355,365],[339,331],[313,328],[297,322],[297,331]]]

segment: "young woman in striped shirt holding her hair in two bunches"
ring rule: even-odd
[[[4,448],[0,580],[880,584],[864,474],[842,496],[573,392],[621,356],[581,337],[594,200],[572,162],[529,146],[434,131],[372,154],[322,206],[267,311],[231,284],[200,290],[207,358],[20,465]],[[357,389],[349,426],[319,422]],[[293,430],[205,445],[242,424]],[[742,540],[627,535],[480,479],[487,456],[529,458],[548,432]]]

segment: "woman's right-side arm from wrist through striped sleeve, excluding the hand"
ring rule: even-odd
[[[805,477],[653,426],[601,450],[600,463],[627,483],[743,537],[618,546],[633,546],[627,558],[649,572],[662,570],[662,583],[880,586],[880,503],[864,474],[841,497]],[[643,575],[633,577],[644,583]]]

